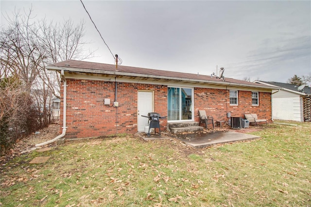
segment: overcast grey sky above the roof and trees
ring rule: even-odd
[[[286,83],[311,73],[311,1],[83,0],[113,54],[124,66]],[[0,0],[1,26],[15,9],[35,18],[85,22],[85,41],[114,64],[80,0]]]

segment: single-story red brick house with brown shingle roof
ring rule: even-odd
[[[199,121],[199,110],[214,120],[227,121],[227,113],[271,120],[274,87],[263,84],[75,60],[47,69],[62,76],[60,120],[66,138],[143,132],[148,118],[141,115],[148,112],[167,117],[160,120],[161,131],[168,123]]]

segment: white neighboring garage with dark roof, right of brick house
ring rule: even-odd
[[[311,88],[277,82],[255,81],[280,87],[272,91],[272,118],[275,120],[311,121]]]

